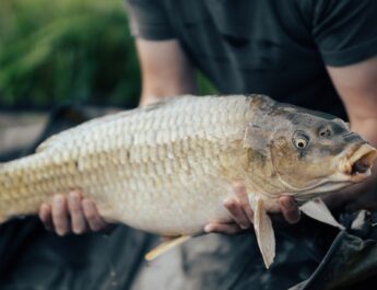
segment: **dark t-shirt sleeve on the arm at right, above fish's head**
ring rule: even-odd
[[[311,3],[311,33],[326,65],[349,66],[377,55],[376,0]]]

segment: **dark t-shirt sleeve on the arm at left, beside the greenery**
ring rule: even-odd
[[[148,40],[175,38],[162,0],[125,0],[131,34]]]

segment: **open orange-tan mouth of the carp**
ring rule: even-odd
[[[363,143],[346,154],[343,173],[352,182],[361,182],[372,174],[373,163],[377,158],[377,150],[368,143]]]

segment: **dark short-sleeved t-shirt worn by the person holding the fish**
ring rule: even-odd
[[[326,71],[377,55],[374,0],[127,0],[133,35],[177,38],[226,94],[261,93],[345,118]]]

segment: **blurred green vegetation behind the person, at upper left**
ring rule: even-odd
[[[132,107],[139,93],[121,0],[0,1],[0,108],[67,101]]]

